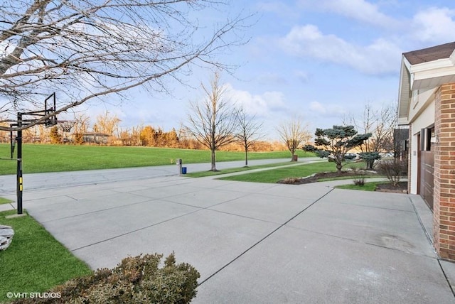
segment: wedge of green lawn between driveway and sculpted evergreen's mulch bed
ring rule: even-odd
[[[352,163],[349,165],[350,168],[357,166],[358,168],[364,168],[365,163]],[[220,178],[220,180],[237,180],[244,182],[257,182],[257,183],[277,183],[277,181],[284,178],[304,178],[314,173],[336,171],[334,163],[328,161],[317,162],[317,163],[305,163],[301,165],[295,165],[291,167],[275,168],[271,170],[264,170],[260,172],[246,173],[242,175],[228,176]]]

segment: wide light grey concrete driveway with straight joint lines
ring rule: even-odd
[[[175,251],[201,274],[194,303],[455,303],[417,195],[168,175],[25,197],[94,269]]]

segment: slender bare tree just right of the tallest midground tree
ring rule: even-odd
[[[237,110],[238,133],[235,135],[245,149],[245,165],[248,165],[248,149],[254,145],[263,136],[259,134],[262,123],[257,122],[256,116],[248,116],[245,108],[240,107]]]

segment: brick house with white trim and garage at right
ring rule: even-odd
[[[408,190],[433,210],[439,256],[455,261],[455,42],[402,54],[398,124],[410,130]]]

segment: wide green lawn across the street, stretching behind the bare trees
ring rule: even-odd
[[[210,163],[210,151],[176,148],[72,146],[23,144],[23,172],[62,172],[107,168],[131,168],[149,165],[170,165],[176,158],[186,163]],[[299,157],[314,156],[298,151]],[[9,160],[9,144],[0,144],[0,175],[15,174],[16,161]],[[243,152],[218,151],[217,161],[241,161]],[[251,152],[248,159],[289,158],[289,151]]]

